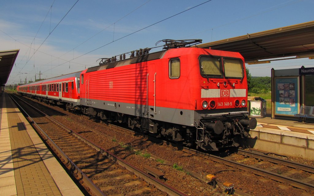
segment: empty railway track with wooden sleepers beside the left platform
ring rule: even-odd
[[[28,103],[11,98],[91,195],[151,195],[155,192],[158,195],[163,194],[161,191],[185,195],[96,146]]]

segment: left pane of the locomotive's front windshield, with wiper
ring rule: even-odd
[[[201,56],[199,58],[200,71],[203,78],[222,78],[221,58]]]

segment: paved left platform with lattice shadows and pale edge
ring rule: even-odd
[[[7,93],[0,122],[0,196],[84,195]]]

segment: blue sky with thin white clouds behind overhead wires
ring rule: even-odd
[[[206,43],[313,21],[313,7],[313,0],[4,0],[0,51],[20,49],[7,83],[15,84],[39,72],[51,78],[84,70],[162,39]],[[271,68],[313,64],[303,58],[248,68],[252,76],[270,76]]]

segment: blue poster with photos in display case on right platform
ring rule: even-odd
[[[292,115],[298,113],[298,78],[277,78],[275,114]]]

